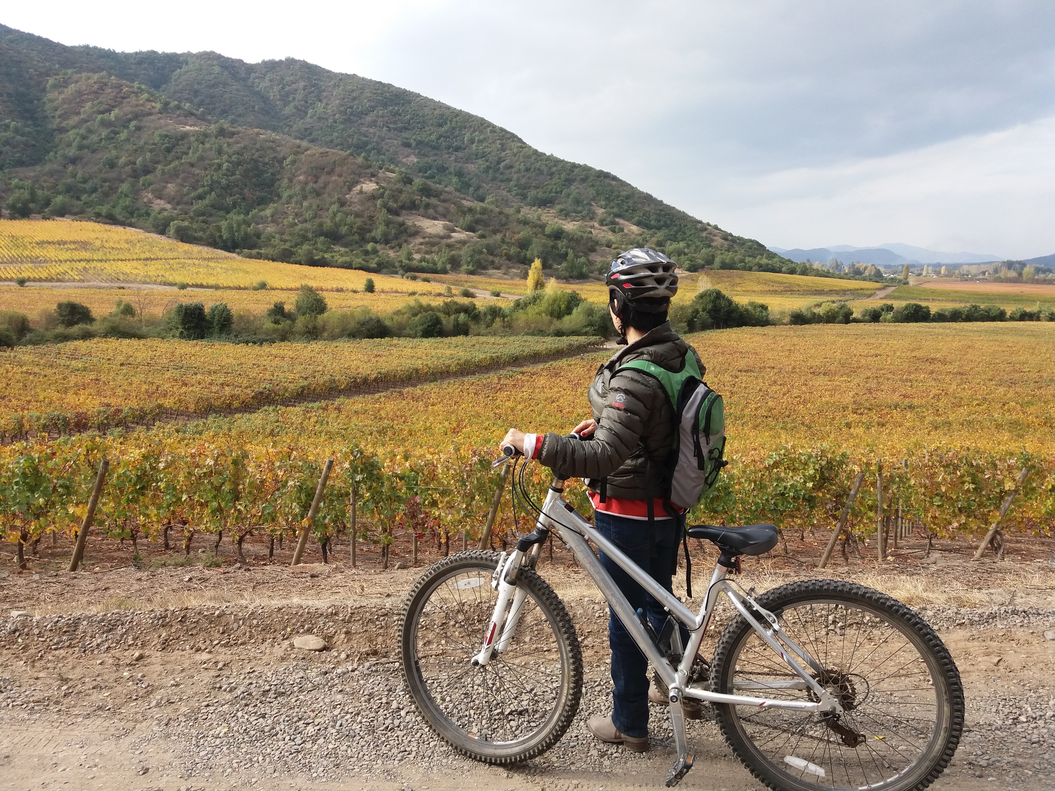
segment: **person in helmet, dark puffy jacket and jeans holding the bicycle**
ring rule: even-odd
[[[693,354],[701,373],[705,370],[695,349],[671,329],[667,319],[671,297],[677,293],[675,267],[673,261],[649,248],[627,250],[612,262],[606,285],[622,348],[600,366],[590,386],[593,417],[573,431],[582,441],[516,428],[502,441],[564,477],[586,479],[597,530],[668,591],[685,529],[685,514],[666,500],[671,467],[667,462],[677,431],[674,406],[658,380],[620,366],[646,360],[677,372],[686,355]],[[667,619],[661,605],[605,553],[600,561],[630,605],[642,610],[658,634]],[[687,637],[683,628],[683,644]],[[644,752],[649,749],[649,700],[666,703],[666,693],[654,683],[650,689],[648,660],[611,613],[609,645],[612,714],[594,715],[589,728],[602,741]],[[693,713],[686,709],[686,715]]]

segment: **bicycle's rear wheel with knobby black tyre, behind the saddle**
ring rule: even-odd
[[[929,786],[956,752],[964,711],[959,672],[934,630],[889,596],[837,580],[792,582],[757,601],[823,668],[812,676],[844,713],[717,706],[723,734],[751,773],[780,791]],[[718,640],[711,689],[817,700],[743,618]]]

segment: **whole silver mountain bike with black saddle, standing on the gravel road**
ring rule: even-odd
[[[506,447],[505,463],[516,451]],[[516,461],[513,462],[516,464]],[[553,747],[582,695],[571,617],[536,564],[551,533],[572,551],[648,658],[669,699],[676,785],[692,767],[683,701],[713,705],[732,752],[779,791],[923,789],[948,765],[963,729],[959,672],[934,630],[901,602],[838,580],[792,582],[756,596],[735,579],[740,557],[776,544],[776,527],[695,525],[718,559],[698,612],[600,535],[564,501],[555,477],[541,506],[520,466],[512,486],[535,515],[511,553],[463,552],[431,565],[407,598],[400,630],[410,695],[435,732],[464,755],[507,765]],[[634,612],[590,544],[668,613],[657,634]],[[697,656],[715,604],[734,619],[713,656]],[[677,624],[688,629],[682,644]]]

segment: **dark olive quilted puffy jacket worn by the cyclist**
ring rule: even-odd
[[[679,371],[685,355],[696,350],[670,328],[670,322],[622,347],[597,369],[590,386],[590,405],[597,430],[587,440],[550,432],[542,440],[539,461],[568,478],[584,478],[597,490],[607,478],[606,494],[645,500],[645,474],[649,468],[652,497],[667,497],[670,481],[666,463],[674,447],[674,414],[667,391],[655,379],[619,369],[632,360],[647,360],[670,371]],[[651,464],[649,463],[651,460]]]

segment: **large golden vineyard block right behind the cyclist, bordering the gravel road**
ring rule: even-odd
[[[692,518],[774,521],[785,530],[830,525],[855,475],[871,481],[883,463],[884,491],[929,532],[977,533],[1029,467],[1009,524],[1050,534],[1055,328],[956,329],[693,336],[708,382],[726,398],[731,464]],[[333,458],[313,523],[320,541],[346,535],[353,489],[364,541],[384,547],[399,532],[477,536],[497,481],[487,463],[497,439],[511,423],[568,430],[586,412],[584,386],[601,359],[180,427],[14,443],[0,452],[0,519],[8,540],[21,543],[70,532],[106,456],[112,468],[97,519],[110,536],[168,540],[175,528],[223,532],[238,543],[254,532],[288,535],[302,524],[323,460]],[[275,370],[288,366],[279,360]],[[542,487],[543,470],[535,472]],[[572,493],[584,506],[581,487]],[[876,507],[866,484],[851,512],[859,535],[875,529]],[[503,507],[496,536],[512,530]]]

